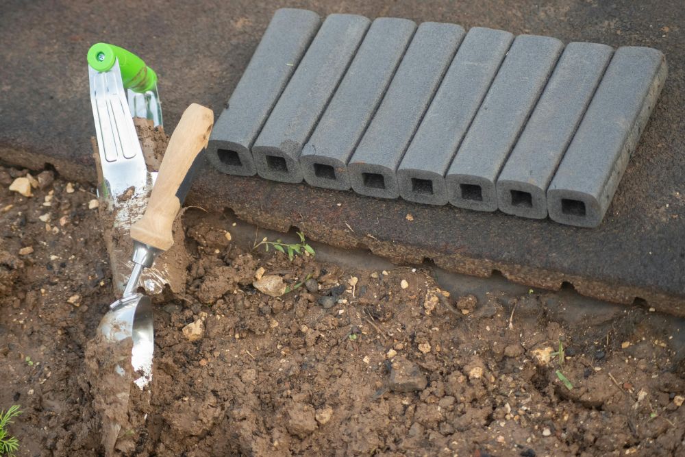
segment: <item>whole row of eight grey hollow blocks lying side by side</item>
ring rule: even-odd
[[[224,173],[596,227],[656,49],[277,10],[208,145]]]

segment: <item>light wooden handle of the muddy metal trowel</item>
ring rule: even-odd
[[[171,226],[192,182],[192,169],[201,163],[200,152],[214,124],[209,108],[193,103],[186,108],[166,147],[147,210],[131,227],[131,238],[166,251],[173,245]]]

